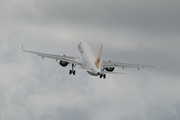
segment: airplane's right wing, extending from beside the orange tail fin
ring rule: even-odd
[[[118,62],[111,62],[111,61],[102,61],[102,68],[108,67],[118,67],[118,68],[160,68],[161,66],[154,66],[154,65],[140,65],[140,64],[129,64],[129,63],[118,63]]]

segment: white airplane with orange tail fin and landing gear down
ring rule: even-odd
[[[54,55],[47,53],[40,53],[34,51],[24,50],[22,44],[22,51],[37,54],[43,58],[55,59],[62,67],[66,67],[71,64],[72,69],[69,71],[69,74],[76,74],[75,67],[84,69],[92,76],[99,76],[100,78],[106,78],[106,74],[123,74],[120,72],[114,72],[115,68],[159,68],[161,66],[153,65],[140,65],[140,64],[129,64],[129,63],[119,63],[112,62],[111,60],[101,60],[103,44],[100,46],[98,55],[96,56],[91,44],[87,41],[81,41],[78,46],[79,57],[66,56],[66,55]],[[78,66],[78,67],[77,67]]]

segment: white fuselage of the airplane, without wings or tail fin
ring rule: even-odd
[[[101,71],[101,68],[97,68],[94,64],[97,58],[90,43],[87,41],[80,42],[78,45],[78,50],[81,55],[83,67],[86,69],[86,71],[91,75],[98,75],[98,73]]]

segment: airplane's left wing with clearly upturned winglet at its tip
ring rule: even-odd
[[[72,56],[66,56],[66,55],[54,55],[54,54],[47,54],[47,53],[40,53],[40,52],[34,52],[34,51],[28,51],[23,49],[22,45],[22,51],[32,53],[32,54],[37,54],[38,56],[42,58],[51,58],[55,59],[56,61],[62,60],[68,63],[74,63],[76,65],[82,66],[82,62],[79,57],[72,57]]]

